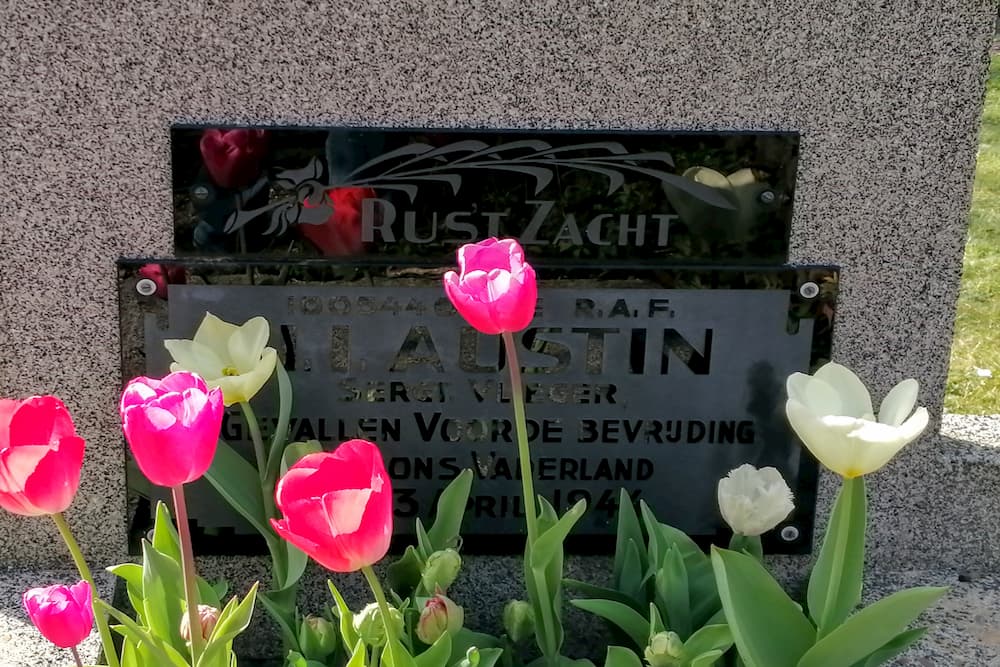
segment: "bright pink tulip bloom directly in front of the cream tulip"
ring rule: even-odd
[[[132,380],[120,411],[132,455],[153,484],[193,482],[212,465],[222,429],[222,390],[209,390],[194,373]]]

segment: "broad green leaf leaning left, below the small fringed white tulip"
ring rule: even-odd
[[[712,548],[722,608],[747,667],[791,667],[816,630],[764,566],[745,554]]]

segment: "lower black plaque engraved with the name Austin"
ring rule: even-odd
[[[494,539],[524,526],[503,355],[498,337],[455,313],[445,268],[123,261],[124,374],[165,373],[162,341],[191,337],[206,311],[263,315],[295,388],[291,440],[378,443],[404,535],[471,468],[467,548],[517,551],[517,540]],[[536,317],[516,339],[536,489],[560,511],[588,500],[569,548],[608,548],[619,488],[700,539],[727,535],[716,482],[750,462],[777,467],[796,494],[787,523],[797,531],[785,535],[798,537],[768,548],[808,550],[816,468],[785,421],[783,385],[829,357],[836,271],[555,266],[539,278]],[[255,403],[266,429],[274,387]],[[223,435],[251,456],[238,411]],[[134,468],[128,481],[141,532],[157,489]],[[192,494],[201,549],[255,548],[214,490]]]

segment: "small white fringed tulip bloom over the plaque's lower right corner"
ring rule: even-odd
[[[776,468],[744,463],[719,480],[719,509],[734,533],[766,533],[792,513],[792,490]]]

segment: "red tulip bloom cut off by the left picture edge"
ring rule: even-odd
[[[0,507],[24,516],[64,511],[83,466],[83,438],[55,396],[0,399]]]

